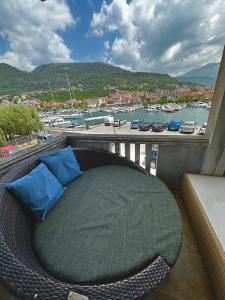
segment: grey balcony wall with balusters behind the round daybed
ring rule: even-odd
[[[135,161],[148,172],[153,171],[167,185],[179,187],[184,173],[200,172],[208,139],[183,135],[63,134],[51,142],[22,150],[0,161],[0,176],[24,159],[67,145],[115,152]],[[154,170],[151,169],[152,149],[158,153]]]

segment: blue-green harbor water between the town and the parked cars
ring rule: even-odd
[[[104,115],[111,115],[111,113],[97,112],[97,113],[86,113],[84,118],[99,117]],[[167,113],[163,111],[159,112],[148,112],[144,109],[136,110],[133,112],[116,113],[114,115],[115,120],[122,119],[127,121],[132,120],[145,120],[150,122],[170,122],[172,119],[182,121],[194,121],[197,125],[202,125],[208,120],[209,110],[204,108],[189,108],[185,107],[180,111],[174,113]],[[78,120],[74,120],[78,123]]]

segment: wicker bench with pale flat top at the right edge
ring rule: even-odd
[[[218,299],[225,299],[225,178],[185,174],[183,197]]]

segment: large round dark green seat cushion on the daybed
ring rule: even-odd
[[[87,170],[70,183],[34,243],[46,270],[63,281],[103,283],[142,270],[157,256],[170,266],[181,219],[162,181],[125,166]]]

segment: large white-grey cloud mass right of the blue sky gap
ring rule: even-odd
[[[178,75],[221,58],[224,0],[113,0],[93,14],[95,36],[111,32],[109,62]]]

